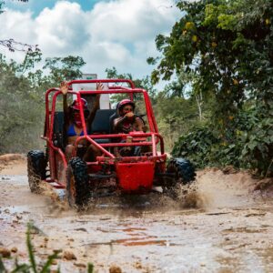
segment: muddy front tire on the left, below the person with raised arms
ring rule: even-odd
[[[66,196],[70,207],[85,207],[91,197],[86,162],[72,158],[66,170]]]

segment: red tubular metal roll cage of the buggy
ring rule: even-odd
[[[75,84],[107,84],[108,88],[104,90],[73,90],[72,86]],[[121,84],[126,83],[129,87],[121,86]],[[109,84],[112,84],[110,86]],[[147,91],[141,88],[136,88],[134,83],[131,80],[125,79],[94,79],[94,80],[72,80],[68,82],[68,94],[76,96],[80,105],[80,116],[83,124],[83,136],[79,136],[76,139],[75,143],[75,155],[77,145],[82,139],[86,139],[94,147],[98,148],[101,151],[102,156],[96,157],[95,162],[86,162],[87,166],[99,166],[102,164],[112,164],[114,165],[116,161],[118,162],[138,162],[149,160],[155,163],[166,162],[167,155],[164,151],[164,141],[163,137],[158,133],[156,119],[153,113],[151,102]],[[142,94],[144,97],[144,103],[147,111],[147,125],[149,127],[149,132],[130,132],[129,134],[113,134],[112,132],[106,134],[88,134],[88,129],[86,128],[86,121],[84,116],[84,110],[81,102],[81,96],[85,95],[96,95],[96,94],[127,94],[131,100],[133,100],[134,94]],[[62,93],[59,88],[48,89],[45,93],[45,130],[42,138],[46,142],[47,153],[49,157],[49,165],[51,172],[51,180],[59,184],[58,187],[65,187],[64,177],[58,175],[58,168],[62,166],[64,169],[67,167],[67,161],[65,156],[65,145],[64,141],[61,145],[56,143],[56,99],[58,96],[62,96]],[[97,116],[99,120],[99,116]],[[108,120],[110,123],[110,120]],[[110,125],[111,126],[111,125]],[[63,131],[63,134],[58,133],[62,139],[64,139],[66,132]],[[116,138],[132,136],[132,143],[121,143],[116,142]],[[108,139],[107,142],[99,143],[100,139]],[[157,145],[160,147],[160,151],[157,152]],[[113,147],[144,147],[150,146],[151,153],[147,156],[141,157],[115,157]],[[61,162],[59,162],[61,161]]]

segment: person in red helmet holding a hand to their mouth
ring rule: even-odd
[[[129,99],[123,99],[117,105],[118,117],[114,119],[114,133],[128,134],[133,131],[146,131],[144,121],[139,116],[134,114],[135,103]],[[126,139],[121,139],[121,142],[131,142],[130,136]],[[140,147],[121,147],[115,148],[114,154],[116,157],[132,157],[140,155]]]

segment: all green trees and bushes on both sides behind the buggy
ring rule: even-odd
[[[197,167],[249,168],[273,176],[273,3],[270,0],[177,1],[181,19],[157,35],[151,76],[133,79],[148,90],[167,151]],[[36,69],[42,66],[43,69]],[[45,90],[80,77],[80,56],[28,52],[0,56],[0,154],[37,147]],[[163,90],[155,84],[172,80]],[[42,143],[40,144],[40,146]]]

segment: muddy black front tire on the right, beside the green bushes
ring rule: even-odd
[[[167,165],[167,173],[173,174],[173,185],[187,185],[196,178],[196,171],[193,164],[185,158],[172,158]]]

